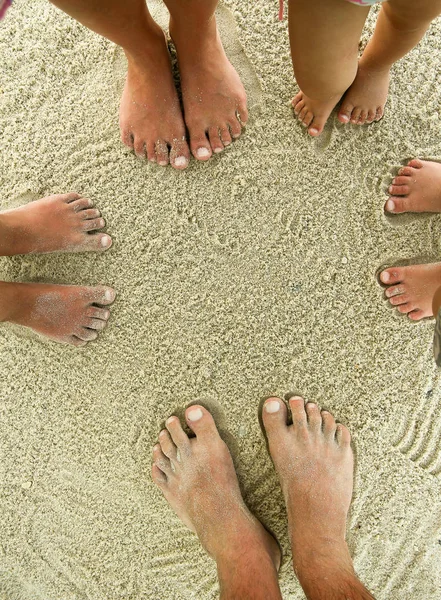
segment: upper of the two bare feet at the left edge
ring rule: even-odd
[[[107,250],[112,240],[94,233],[105,221],[92,207],[78,194],[57,194],[1,212],[0,256]]]

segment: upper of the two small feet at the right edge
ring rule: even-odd
[[[412,159],[398,171],[388,191],[387,212],[441,212],[441,164]]]

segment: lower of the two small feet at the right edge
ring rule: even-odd
[[[441,263],[390,267],[380,273],[386,298],[400,313],[419,321],[433,317],[432,301],[441,286]]]

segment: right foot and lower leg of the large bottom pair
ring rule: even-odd
[[[294,571],[309,600],[372,600],[357,578],[345,541],[354,460],[349,431],[303,398],[263,408],[269,451],[288,511]]]

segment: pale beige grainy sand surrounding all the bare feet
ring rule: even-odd
[[[377,8],[363,32],[372,33]],[[166,23],[165,9],[152,12]],[[211,600],[213,561],[150,478],[165,418],[211,407],[244,498],[290,566],[259,403],[298,392],[352,432],[348,539],[378,600],[440,598],[440,374],[433,321],[384,299],[378,269],[440,260],[441,217],[386,218],[391,174],[441,157],[441,20],[393,68],[386,115],[293,119],[277,2],[228,0],[221,34],[250,98],[246,133],[184,172],[119,140],[121,49],[44,0],[0,24],[0,206],[94,200],[113,247],[0,259],[0,279],[115,287],[84,349],[0,327],[0,599]]]

